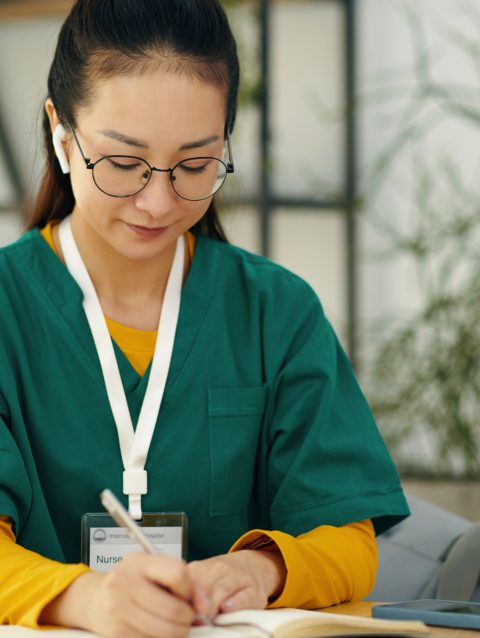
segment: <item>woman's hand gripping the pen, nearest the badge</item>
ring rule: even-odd
[[[195,618],[187,566],[132,553],[108,574],[89,572],[43,612],[41,622],[114,638],[183,638]]]

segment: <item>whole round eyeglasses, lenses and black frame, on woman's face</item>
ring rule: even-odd
[[[85,168],[92,171],[93,181],[99,190],[110,197],[131,197],[149,183],[154,172],[168,173],[176,194],[192,202],[208,199],[223,186],[229,173],[234,172],[232,149],[227,137],[228,159],[218,157],[190,157],[172,168],[157,168],[134,155],[106,155],[91,162],[80,146],[77,135],[70,126]]]

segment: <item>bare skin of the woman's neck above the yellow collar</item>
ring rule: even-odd
[[[132,260],[114,250],[75,213],[71,223],[104,314],[132,328],[156,329],[176,243],[155,259]],[[55,235],[54,239],[58,246]]]

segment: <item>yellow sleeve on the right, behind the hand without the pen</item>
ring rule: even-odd
[[[375,531],[370,520],[343,527],[322,525],[294,537],[284,532],[252,530],[231,547],[262,549],[283,557],[287,577],[282,593],[269,607],[318,609],[361,600],[375,584],[378,566]]]

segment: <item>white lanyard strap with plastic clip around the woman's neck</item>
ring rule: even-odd
[[[175,257],[168,277],[158,323],[150,376],[135,430],[105,316],[95,287],[75,243],[70,216],[60,224],[59,240],[65,264],[83,292],[83,308],[97,348],[108,400],[118,431],[124,467],[123,493],[128,494],[131,516],[139,520],[142,518],[141,495],[147,493],[145,462],[162,402],[180,311],[185,240],[183,235],[177,240]]]

